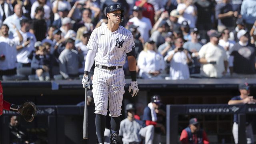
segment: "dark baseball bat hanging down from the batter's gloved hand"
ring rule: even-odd
[[[88,111],[87,111],[87,88],[85,88],[84,98],[84,124],[83,124],[83,139],[88,139]]]

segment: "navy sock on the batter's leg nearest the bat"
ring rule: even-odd
[[[95,117],[95,126],[97,131],[97,137],[99,140],[99,143],[104,143],[104,132],[106,128],[106,116],[102,114],[96,114]]]

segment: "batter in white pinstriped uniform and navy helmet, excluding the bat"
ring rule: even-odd
[[[127,56],[132,82],[129,92],[132,96],[138,94],[136,82],[136,58],[132,33],[120,26],[124,19],[124,10],[118,4],[110,4],[106,8],[108,24],[93,30],[87,47],[89,48],[82,84],[90,88],[88,73],[95,60],[95,70],[92,80],[93,98],[95,102],[95,124],[99,143],[103,144],[106,127],[106,114],[110,112],[111,144],[117,144],[120,129],[120,113],[124,94],[124,71],[122,66]]]

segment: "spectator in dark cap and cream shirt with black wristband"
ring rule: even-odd
[[[212,32],[210,42],[202,46],[198,55],[202,64],[201,74],[203,77],[221,78],[227,72],[228,61],[226,51],[219,46],[220,34]]]

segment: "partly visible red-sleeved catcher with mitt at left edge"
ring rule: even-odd
[[[9,102],[3,100],[3,98],[3,88],[0,81],[0,116],[3,114],[3,110],[11,110],[13,112],[20,113],[27,122],[32,122],[34,120],[34,116],[36,115],[36,106],[33,102],[25,102],[20,106],[10,104]]]

